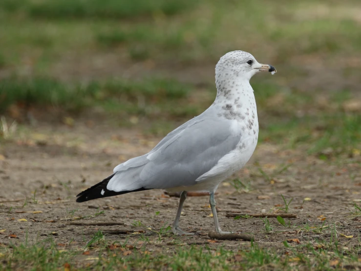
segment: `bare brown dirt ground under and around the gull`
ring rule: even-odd
[[[144,136],[141,130],[112,128],[109,125],[39,124],[36,129],[23,128],[22,136],[2,146],[0,160],[0,243],[29,244],[52,236],[59,246],[84,246],[98,230],[143,230],[150,240],[158,234],[145,227],[133,226],[140,221],[152,230],[172,223],[178,204],[176,197],[163,191],[149,190],[127,195],[76,203],[75,195],[103,180],[118,163],[148,152],[161,138]],[[237,173],[249,189],[236,191],[228,180],[220,185],[216,195],[218,216],[223,230],[252,233],[260,247],[284,250],[283,242],[297,238],[299,242],[314,243],[327,238],[329,232],[305,231],[305,225],[338,228],[340,244],[358,246],[360,216],[352,216],[353,202],[361,201],[360,156],[348,158],[347,163],[323,161],[307,156],[301,149],[259,144],[247,167]],[[279,173],[284,166],[288,166]],[[259,168],[264,174],[260,174]],[[246,190],[246,191],[244,191]],[[248,191],[249,190],[249,191]],[[35,196],[34,196],[35,194]],[[283,212],[283,200],[290,203],[288,212],[296,219],[285,219],[292,227],[281,226],[270,218],[271,233],[265,232],[260,218],[227,218],[226,213]],[[213,230],[213,218],[208,196],[188,197],[181,217],[181,228],[196,233],[181,236],[177,242],[207,243],[208,231]],[[127,226],[73,226],[72,221],[124,222]],[[347,238],[343,236],[351,236]],[[16,237],[16,238],[14,238]],[[107,234],[107,240],[147,246],[149,251],[175,249],[170,246],[172,235],[163,242],[139,241],[138,234]],[[218,241],[228,249],[245,241]],[[167,245],[168,244],[168,245]],[[281,253],[281,252],[280,252]],[[282,252],[283,253],[283,252]],[[84,256],[89,257],[89,256]]]

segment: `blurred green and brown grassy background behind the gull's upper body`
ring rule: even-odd
[[[0,114],[163,136],[212,103],[216,62],[244,50],[278,71],[251,80],[260,142],[360,155],[360,29],[359,0],[1,0]]]

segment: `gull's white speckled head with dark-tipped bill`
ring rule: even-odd
[[[242,77],[250,80],[257,72],[269,71],[274,74],[276,68],[268,64],[259,64],[253,55],[244,51],[232,51],[218,61],[215,66],[215,77]]]

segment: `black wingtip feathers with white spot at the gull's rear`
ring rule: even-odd
[[[128,190],[128,191],[120,191],[120,192],[114,192],[111,190],[106,189],[106,185],[108,184],[108,182],[110,181],[110,179],[115,175],[112,174],[109,177],[107,177],[106,179],[104,179],[101,182],[98,182],[97,184],[93,185],[92,187],[84,190],[83,192],[79,193],[77,195],[77,203],[83,203],[83,202],[87,202],[90,200],[95,200],[95,199],[99,199],[99,198],[105,198],[105,197],[111,197],[111,196],[116,196],[116,195],[122,195],[122,194],[127,194],[130,192],[137,192],[137,191],[143,191],[143,190],[148,190],[145,188],[139,188],[139,189],[135,189],[135,190]]]

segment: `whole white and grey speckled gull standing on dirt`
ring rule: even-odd
[[[215,231],[219,226],[214,193],[218,185],[251,158],[258,139],[258,118],[250,79],[276,68],[259,64],[253,55],[232,51],[215,66],[217,96],[212,105],[164,137],[148,154],[117,165],[113,174],[77,195],[82,203],[149,189],[180,192],[172,224],[175,235],[190,235],[179,227],[188,191],[210,193]]]

